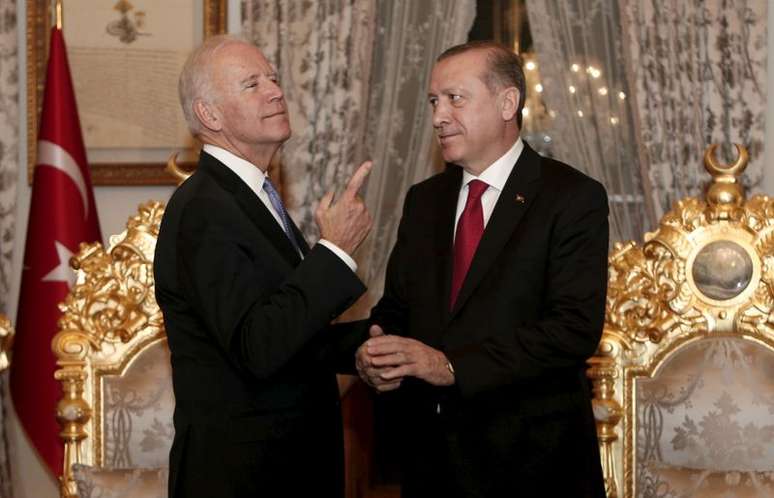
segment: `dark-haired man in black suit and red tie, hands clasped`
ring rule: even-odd
[[[447,170],[406,195],[376,336],[404,497],[604,496],[585,360],[604,319],[604,188],[519,137],[521,61],[443,53],[429,102]],[[382,335],[383,332],[388,335]]]

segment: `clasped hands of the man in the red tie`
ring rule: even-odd
[[[369,334],[355,353],[355,366],[360,378],[377,391],[395,390],[406,377],[435,386],[454,384],[443,352],[416,339],[386,335],[379,325],[372,325]]]

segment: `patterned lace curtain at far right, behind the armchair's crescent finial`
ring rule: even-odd
[[[760,0],[622,0],[640,136],[660,215],[701,195],[708,144],[750,152],[743,182],[763,176],[766,120],[766,16]]]

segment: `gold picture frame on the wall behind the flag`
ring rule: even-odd
[[[194,8],[201,7],[203,38],[226,32],[226,0],[191,1]],[[63,4],[65,32],[67,32],[67,0]],[[36,163],[36,142],[40,127],[39,117],[53,10],[53,0],[27,0],[27,173],[30,183]],[[100,28],[95,26],[94,29]],[[138,150],[138,156],[140,152]],[[88,149],[87,155],[89,155]],[[89,166],[94,185],[174,185],[177,183],[176,178],[164,171],[165,162],[162,160],[90,161]]]

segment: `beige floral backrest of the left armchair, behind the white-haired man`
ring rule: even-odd
[[[166,341],[138,354],[122,377],[103,380],[104,467],[167,466],[175,398]]]

